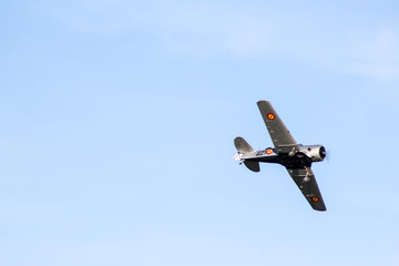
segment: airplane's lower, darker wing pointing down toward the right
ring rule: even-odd
[[[293,177],[306,200],[316,211],[326,211],[326,205],[323,201],[320,191],[318,188],[315,175],[310,167],[288,168],[289,175]]]

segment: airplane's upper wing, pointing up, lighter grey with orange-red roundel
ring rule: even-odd
[[[270,102],[262,100],[257,102],[257,105],[277,152],[289,153],[293,151],[293,147],[297,147],[296,141],[272,106]]]

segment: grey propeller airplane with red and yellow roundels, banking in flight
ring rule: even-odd
[[[241,161],[239,164],[244,163],[254,172],[260,171],[259,163],[282,164],[287,168],[288,174],[310,206],[316,211],[326,211],[326,205],[311,171],[311,163],[325,160],[326,149],[321,145],[298,144],[269,101],[258,101],[257,105],[275,147],[255,151],[242,136],[237,136],[234,139],[234,145],[238,153],[234,160]]]

